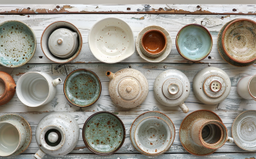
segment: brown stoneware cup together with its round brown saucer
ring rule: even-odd
[[[193,111],[187,115],[180,125],[179,138],[190,154],[199,156],[214,153],[229,139],[222,119],[207,110]]]

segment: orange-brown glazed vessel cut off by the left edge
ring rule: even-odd
[[[6,104],[13,98],[16,91],[16,83],[13,77],[0,71],[0,105]]]

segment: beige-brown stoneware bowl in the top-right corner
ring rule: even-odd
[[[256,22],[236,19],[225,26],[222,47],[234,62],[250,63],[256,59]]]

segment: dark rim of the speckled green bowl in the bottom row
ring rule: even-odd
[[[92,117],[94,117],[95,115],[104,114],[104,113],[105,113],[105,114],[109,114],[109,115],[113,115],[115,118],[117,118],[117,120],[119,120],[119,122],[121,123],[122,128],[123,128],[123,132],[124,132],[124,133],[123,133],[123,139],[122,139],[122,141],[121,141],[119,147],[117,147],[116,150],[111,151],[111,152],[109,152],[109,153],[99,153],[98,151],[93,150],[92,147],[89,147],[88,143],[87,143],[86,140],[85,140],[85,128],[86,128],[86,124],[87,124],[87,123],[90,121],[90,119],[91,119]],[[125,140],[125,136],[126,136],[125,126],[124,126],[124,123],[121,121],[121,118],[119,118],[117,115],[114,115],[114,113],[111,113],[111,112],[109,112],[109,111],[99,111],[99,112],[96,112],[96,113],[94,113],[93,115],[89,116],[89,117],[86,119],[85,124],[84,124],[83,129],[82,129],[82,137],[83,137],[85,146],[88,148],[88,150],[91,150],[92,153],[99,154],[99,155],[102,155],[102,156],[114,154],[115,152],[117,152],[117,150],[119,150],[119,149],[123,146],[124,140]]]

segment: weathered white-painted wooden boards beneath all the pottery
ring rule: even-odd
[[[138,53],[135,53],[124,61],[117,64],[105,64],[99,62],[88,48],[88,32],[92,25],[99,19],[114,16],[123,19],[127,22],[134,32],[135,37],[145,26],[159,25],[168,30],[171,34],[173,46],[171,54],[163,62],[149,63],[144,61]],[[153,97],[153,82],[160,72],[166,69],[178,69],[188,76],[192,86],[193,77],[201,69],[215,66],[223,69],[228,73],[232,88],[229,96],[220,104],[206,105],[202,104],[190,92],[186,105],[189,107],[189,113],[199,109],[207,109],[215,111],[225,123],[231,136],[231,125],[234,118],[245,110],[255,110],[256,102],[254,100],[243,100],[236,93],[236,84],[243,76],[256,74],[256,65],[251,65],[246,68],[237,68],[229,65],[218,54],[217,36],[218,31],[222,26],[231,19],[247,18],[256,21],[256,5],[1,5],[0,6],[0,22],[5,20],[17,19],[27,23],[34,30],[37,37],[38,46],[27,65],[19,68],[6,68],[0,66],[0,70],[8,72],[17,82],[20,76],[25,72],[41,71],[46,72],[50,76],[60,77],[63,81],[66,76],[74,69],[91,69],[99,76],[102,82],[103,90],[96,104],[88,108],[78,108],[70,104],[63,94],[63,83],[57,86],[58,91],[56,97],[49,104],[38,108],[30,108],[20,102],[15,95],[8,104],[0,107],[0,115],[7,113],[16,113],[23,116],[31,124],[33,137],[31,145],[23,153],[16,157],[0,157],[0,158],[19,158],[29,159],[34,158],[33,154],[38,150],[38,144],[34,138],[35,129],[38,122],[45,115],[52,111],[66,111],[78,121],[80,130],[85,123],[85,120],[96,111],[111,111],[114,112],[124,122],[126,128],[126,139],[123,147],[116,154],[100,157],[92,154],[87,148],[80,136],[77,148],[65,157],[50,157],[47,158],[146,158],[139,154],[134,147],[129,136],[130,126],[133,120],[140,114],[146,111],[161,111],[171,118],[175,124],[176,136],[175,142],[171,148],[163,155],[157,158],[250,158],[255,159],[255,153],[249,153],[240,149],[235,143],[225,143],[218,149],[215,154],[206,157],[197,157],[189,154],[179,141],[178,130],[182,119],[187,114],[183,113],[178,107],[164,107],[159,104]],[[50,23],[58,20],[65,20],[73,23],[81,31],[83,37],[83,48],[80,55],[73,62],[59,65],[49,61],[41,51],[40,38],[45,27]],[[175,37],[178,30],[189,23],[198,23],[206,26],[213,37],[213,48],[208,58],[201,62],[192,63],[182,58],[175,48]],[[129,110],[117,108],[112,103],[108,93],[109,79],[105,76],[106,71],[117,72],[119,69],[132,68],[142,72],[150,85],[150,92],[146,101],[139,107]],[[81,134],[80,134],[81,135]]]

